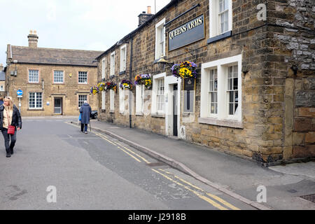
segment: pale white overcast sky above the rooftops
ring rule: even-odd
[[[39,48],[107,50],[138,27],[138,15],[155,13],[170,0],[0,0],[0,64],[6,45],[27,46],[38,34]]]

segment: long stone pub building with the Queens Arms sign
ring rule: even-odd
[[[265,165],[314,158],[314,58],[312,1],[174,0],[97,57],[98,82],[153,81],[101,92],[99,120]],[[184,61],[195,80],[173,76]]]

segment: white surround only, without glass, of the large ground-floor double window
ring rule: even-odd
[[[237,65],[238,84],[238,113],[229,115],[228,108],[228,68]],[[209,102],[209,78],[211,69],[218,69],[218,113],[210,114]],[[241,123],[241,55],[218,59],[214,62],[202,64],[200,118],[215,118],[216,120],[234,120]],[[215,125],[215,123],[214,123]],[[226,125],[225,125],[226,126]]]

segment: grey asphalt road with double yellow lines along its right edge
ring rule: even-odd
[[[23,118],[0,153],[0,209],[253,209],[105,134],[66,118]]]

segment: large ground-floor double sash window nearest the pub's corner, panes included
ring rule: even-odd
[[[200,118],[241,122],[241,55],[202,64]]]

